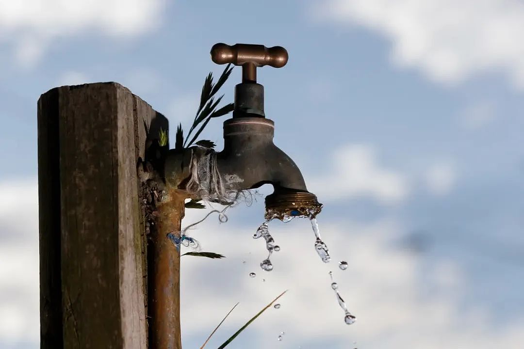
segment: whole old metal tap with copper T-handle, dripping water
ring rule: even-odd
[[[206,176],[205,181],[212,182],[209,188],[222,188],[231,193],[272,184],[275,191],[265,200],[267,219],[316,216],[322,204],[308,192],[293,160],[273,143],[275,123],[265,118],[264,86],[256,81],[257,67],[270,65],[278,68],[286,65],[286,49],[217,43],[211,49],[211,59],[217,64],[241,65],[242,83],[235,86],[233,118],[224,121],[224,149],[212,154],[212,160],[208,161],[210,165],[206,165],[208,168],[214,166],[214,170],[205,171],[215,172],[220,177]],[[209,152],[194,149],[190,157],[194,159],[194,156],[202,154]],[[167,177],[173,177],[175,172],[179,178],[190,174],[184,163],[189,164],[192,160],[187,154],[185,159],[179,157],[177,165],[171,166],[173,168],[166,163],[166,173],[171,174]],[[187,182],[181,183],[184,185]],[[213,198],[213,193],[210,194]]]

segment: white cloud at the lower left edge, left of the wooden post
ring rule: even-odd
[[[39,339],[36,178],[0,182],[0,343]]]

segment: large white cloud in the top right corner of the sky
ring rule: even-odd
[[[389,38],[392,58],[432,80],[456,83],[504,70],[524,88],[524,4],[518,0],[330,0],[325,21],[364,26]]]

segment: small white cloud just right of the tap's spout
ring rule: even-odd
[[[326,173],[308,178],[308,188],[323,200],[370,196],[391,204],[406,198],[405,179],[377,162],[373,147],[345,145],[335,151]]]

